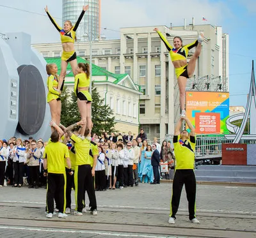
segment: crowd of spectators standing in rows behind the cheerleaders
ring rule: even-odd
[[[142,128],[136,138],[129,131],[127,135],[102,133],[99,137],[93,134],[92,141],[99,149],[95,168],[96,191],[122,190],[127,186],[138,186],[139,182],[159,184],[162,175],[170,179],[169,170],[173,168],[174,159],[171,142],[164,140],[160,145],[155,137],[152,144],[148,144]],[[0,187],[45,188],[42,156],[46,145],[42,138],[0,140]],[[72,140],[68,140],[67,146],[68,149],[72,147]],[[161,162],[164,167],[160,166]]]

